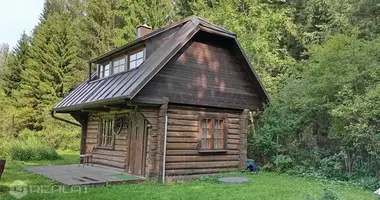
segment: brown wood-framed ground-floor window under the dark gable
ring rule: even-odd
[[[204,117],[199,119],[199,150],[226,150],[226,126],[224,117]]]

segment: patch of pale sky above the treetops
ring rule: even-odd
[[[38,24],[44,0],[0,0],[0,44],[11,48]]]

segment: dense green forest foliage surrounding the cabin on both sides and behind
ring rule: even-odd
[[[373,0],[47,0],[32,34],[0,46],[0,136],[77,149],[79,130],[49,109],[84,79],[86,61],[135,39],[137,25],[193,14],[237,33],[271,95],[253,116],[250,157],[269,170],[379,186]]]

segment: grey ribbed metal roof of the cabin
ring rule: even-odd
[[[70,112],[92,106],[93,104],[132,99],[200,29],[209,29],[218,32],[218,34],[236,39],[234,33],[195,16],[158,31],[162,33],[176,26],[181,26],[181,28],[162,44],[160,48],[155,50],[138,68],[99,80],[93,80],[95,79],[95,74],[93,74],[91,81],[85,80],[82,82],[60,103],[54,106],[52,110]],[[149,37],[154,37],[154,35],[157,35],[157,33],[153,32]],[[130,45],[135,44],[136,42],[130,43]],[[128,46],[124,45],[123,48],[128,48]],[[122,49],[118,51],[120,50]],[[115,53],[117,51],[111,52]],[[106,55],[111,55],[111,53],[107,53]],[[104,56],[93,60],[101,58],[104,58]],[[264,90],[264,88],[262,89]]]

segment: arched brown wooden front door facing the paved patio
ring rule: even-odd
[[[145,174],[145,149],[147,122],[141,113],[131,114],[129,120],[129,149],[126,171],[131,174]]]

